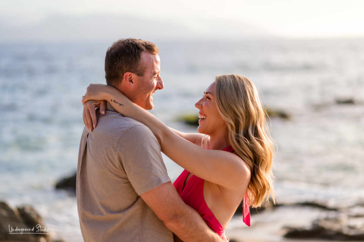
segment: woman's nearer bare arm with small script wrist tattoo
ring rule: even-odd
[[[106,100],[123,116],[148,126],[157,137],[162,152],[195,176],[227,189],[241,187],[249,182],[250,170],[240,157],[222,150],[204,149],[185,140],[115,88],[91,84],[82,100],[83,104],[88,100]]]

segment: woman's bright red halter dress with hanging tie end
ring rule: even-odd
[[[231,145],[223,150],[227,152],[234,151]],[[177,180],[175,180],[173,185],[177,189],[177,192],[182,200],[187,205],[197,210],[203,220],[205,220],[206,224],[222,238],[224,234],[224,228],[219,223],[215,215],[211,212],[205,202],[205,198],[203,197],[203,182],[205,180],[195,175],[192,175],[188,180],[186,186],[183,187],[183,184],[185,183],[188,174],[190,173],[187,170],[184,170],[181,175],[179,175]],[[246,225],[250,226],[250,211],[248,197],[246,196],[246,194],[244,195],[243,203],[243,221]]]

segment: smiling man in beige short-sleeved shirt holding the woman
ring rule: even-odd
[[[112,44],[105,73],[108,85],[144,109],[153,109],[152,96],[163,89],[158,48],[147,41]],[[222,241],[179,197],[150,129],[110,104],[97,115],[97,128],[83,131],[77,168],[84,241],[168,242],[173,233],[185,242]]]

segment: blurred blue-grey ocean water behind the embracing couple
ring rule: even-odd
[[[81,96],[88,84],[105,83],[109,44],[0,45],[0,200],[33,205],[51,233],[67,241],[82,239],[76,199],[54,184],[76,170]],[[271,124],[278,201],[364,201],[363,39],[156,44],[165,88],[151,112],[167,125],[196,132],[176,117],[197,113],[194,103],[217,74],[241,74],[257,85],[265,106],[291,117]],[[345,99],[355,103],[337,103]],[[174,180],[182,168],[164,159]],[[305,220],[317,215],[304,211]],[[299,217],[302,210],[288,213]]]

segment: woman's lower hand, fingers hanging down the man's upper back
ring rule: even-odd
[[[96,128],[97,125],[95,108],[99,108],[100,113],[105,114],[106,101],[89,100],[83,105],[83,123],[90,132]]]

